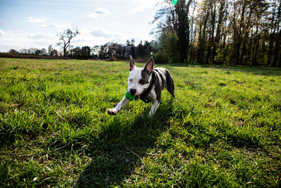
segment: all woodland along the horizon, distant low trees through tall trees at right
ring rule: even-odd
[[[164,0],[158,7],[154,41],[72,47],[65,56],[115,60],[153,54],[158,63],[281,66],[281,0],[178,0],[176,5]],[[60,56],[52,46],[34,53]]]

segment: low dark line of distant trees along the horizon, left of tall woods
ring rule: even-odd
[[[63,58],[75,58],[75,59],[107,59],[112,61],[125,60],[131,55],[133,58],[147,58],[156,52],[156,42],[139,42],[135,44],[135,40],[127,40],[126,44],[118,44],[117,42],[107,42],[100,46],[68,46],[62,51],[58,51],[53,46],[48,46],[48,49],[20,49],[16,51],[11,49],[9,54],[22,54],[22,55],[35,55],[35,56],[56,56]],[[62,48],[63,49],[63,48]]]

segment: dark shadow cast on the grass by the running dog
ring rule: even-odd
[[[155,148],[157,138],[166,129],[171,117],[173,99],[159,106],[153,118],[139,114],[124,125],[121,116],[115,116],[105,130],[93,139],[87,151],[91,163],[85,168],[74,187],[109,187],[122,184],[134,168],[144,165],[141,158]]]

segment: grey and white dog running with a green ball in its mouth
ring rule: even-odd
[[[135,99],[141,99],[145,103],[152,102],[152,107],[149,116],[152,117],[157,110],[160,101],[161,93],[164,88],[168,90],[171,96],[175,97],[174,79],[171,77],[169,70],[165,68],[154,68],[153,57],[145,64],[143,68],[137,68],[135,61],[130,56],[129,60],[129,78],[128,78],[128,92]],[[126,94],[123,96],[122,101],[107,110],[110,115],[115,115],[132,99],[127,99]]]

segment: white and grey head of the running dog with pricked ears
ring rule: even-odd
[[[154,60],[151,57],[143,68],[137,68],[133,58],[130,56],[130,74],[128,79],[128,91],[137,96],[137,99],[150,85],[151,75],[154,67]]]

